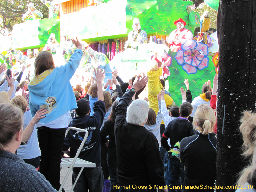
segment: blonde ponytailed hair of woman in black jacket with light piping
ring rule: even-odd
[[[203,129],[203,134],[213,133],[213,127],[216,124],[216,117],[212,108],[207,104],[200,105],[195,112],[193,119],[194,129]]]

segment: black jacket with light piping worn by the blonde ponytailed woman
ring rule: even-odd
[[[196,132],[180,143],[180,158],[185,166],[185,185],[213,186],[216,179],[216,134]],[[214,189],[185,189],[185,191],[211,191]]]

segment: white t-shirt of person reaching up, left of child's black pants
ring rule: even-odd
[[[23,115],[23,130],[28,126],[32,119],[31,111],[26,111]],[[36,126],[33,129],[32,135],[29,138],[26,145],[20,145],[17,149],[17,155],[22,159],[33,159],[41,156],[39,149],[38,139],[37,139],[37,129]]]

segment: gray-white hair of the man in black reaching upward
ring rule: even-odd
[[[146,122],[148,110],[147,101],[136,99],[127,108],[126,121],[130,124],[141,125]]]

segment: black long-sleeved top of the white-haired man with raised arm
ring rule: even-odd
[[[117,181],[120,185],[165,185],[159,145],[145,127],[126,122],[126,110],[134,92],[126,93],[115,110]]]

